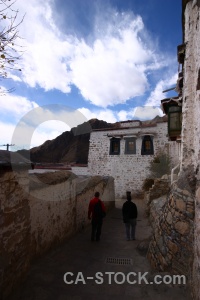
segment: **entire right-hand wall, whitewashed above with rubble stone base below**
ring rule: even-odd
[[[200,1],[183,0],[182,132],[177,184],[163,206],[150,244],[153,267],[187,274],[200,299]],[[181,68],[181,66],[180,66]]]

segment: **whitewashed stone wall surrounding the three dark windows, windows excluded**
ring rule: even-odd
[[[135,123],[134,123],[135,124]],[[124,197],[126,191],[132,194],[141,193],[144,179],[149,174],[149,162],[153,155],[141,155],[142,135],[153,134],[154,154],[168,143],[167,123],[157,123],[157,126],[132,127],[116,130],[93,131],[90,136],[88,169],[92,175],[112,176],[115,179],[115,194],[117,198]],[[135,135],[136,154],[125,154],[125,140],[120,141],[120,155],[109,155],[110,138],[112,135]]]

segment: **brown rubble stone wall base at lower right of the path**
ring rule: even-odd
[[[153,269],[189,277],[193,261],[194,199],[187,189],[174,184],[167,199],[160,202],[159,213],[150,214],[156,219],[150,218],[154,231],[148,259]],[[155,209],[154,205],[152,208]]]

